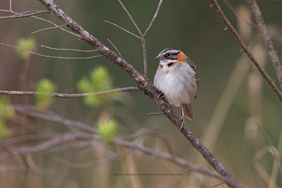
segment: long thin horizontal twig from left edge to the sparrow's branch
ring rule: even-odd
[[[0,94],[5,95],[22,95],[22,96],[35,96],[35,95],[49,95],[52,97],[58,98],[81,98],[90,95],[106,95],[113,94],[117,92],[130,92],[130,91],[139,91],[137,87],[123,87],[118,89],[111,89],[102,92],[91,92],[91,93],[82,93],[82,94],[61,94],[61,93],[48,93],[48,92],[23,92],[23,91],[4,91],[0,90]]]

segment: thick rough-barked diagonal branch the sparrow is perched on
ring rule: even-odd
[[[59,6],[57,6],[54,1],[52,0],[38,0],[46,6],[51,13],[53,13],[56,17],[61,19],[64,24],[66,24],[73,32],[80,35],[81,39],[84,39],[87,43],[89,43],[92,47],[97,49],[102,55],[104,55],[106,58],[108,58],[110,61],[112,61],[114,64],[121,67],[123,70],[125,70],[130,77],[135,80],[137,83],[137,87],[144,92],[147,96],[149,96],[151,99],[154,100],[154,102],[159,106],[161,111],[164,112],[164,115],[166,115],[167,118],[171,120],[171,122],[180,129],[182,125],[182,120],[176,115],[176,113],[173,113],[172,108],[169,106],[169,104],[166,102],[165,99],[162,99],[161,97],[158,97],[160,92],[154,87],[154,85],[147,80],[146,77],[144,77],[142,74],[137,72],[135,68],[133,68],[130,63],[126,62],[121,56],[118,56],[114,53],[114,51],[111,51],[108,47],[106,47],[102,42],[99,42],[99,40],[92,35],[90,35],[89,32],[84,30],[78,23],[76,23],[73,19],[71,19],[66,13],[63,12]],[[282,98],[281,98],[282,99]],[[181,129],[182,134],[190,141],[192,146],[199,151],[202,156],[207,160],[207,162],[212,165],[212,167],[223,177],[223,180],[228,184],[229,187],[243,187],[241,186],[237,180],[231,175],[231,173],[226,170],[226,168],[219,162],[219,160],[214,156],[213,153],[211,153],[196,137],[196,135],[188,128],[183,127]]]

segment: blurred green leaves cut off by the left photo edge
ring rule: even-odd
[[[7,118],[12,118],[15,115],[15,111],[10,106],[10,99],[8,97],[0,98],[0,139],[9,137],[11,132],[8,130],[5,124]]]

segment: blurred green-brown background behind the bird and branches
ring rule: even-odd
[[[116,51],[113,43],[123,58],[142,73],[140,39],[104,21],[138,35],[118,1],[63,0],[56,3],[94,37]],[[146,30],[158,3],[123,1],[142,31]],[[278,84],[262,38],[252,25],[255,20],[246,1],[219,1],[219,4],[247,46],[250,46],[257,61]],[[260,0],[259,6],[280,54],[282,2]],[[1,9],[8,7],[8,0],[0,1]],[[44,9],[44,6],[39,1],[12,1],[12,8],[13,11],[24,12]],[[11,13],[1,11],[1,16],[4,15]],[[63,25],[50,13],[38,17]],[[92,50],[86,42],[59,28],[32,34],[47,27],[53,25],[35,18],[0,19],[0,42],[48,56],[99,55],[97,52],[58,51],[42,47]],[[164,1],[147,35],[149,80],[154,79],[158,66],[154,57],[159,51],[168,47],[184,51],[197,65],[200,85],[197,99],[192,104],[195,120],[186,124],[238,181],[248,187],[282,187],[281,102],[225,27],[210,6],[210,1]],[[135,86],[135,82],[121,68],[104,57],[85,60],[46,58],[3,45],[0,46],[0,56],[1,90],[79,93]],[[63,118],[93,127],[99,128],[101,122],[106,122],[106,126],[114,127],[114,132],[118,132],[113,133],[116,137],[139,130],[152,130],[159,136],[143,134],[132,142],[172,153],[212,170],[167,118],[147,115],[159,112],[159,108],[142,92],[88,99],[1,96],[0,100],[1,153],[10,151],[10,146],[35,146],[43,142],[42,139],[30,139],[29,142],[11,144],[12,138],[17,140],[23,135],[50,135],[51,138],[67,131],[59,123],[31,117],[28,111],[20,113],[13,108],[13,105],[28,104],[36,106],[42,113],[52,111]],[[179,114],[178,108],[175,111]],[[68,149],[1,158],[0,167],[1,188],[212,187],[221,183],[140,151],[101,142],[92,147],[70,146]],[[114,173],[178,175],[126,176]],[[222,184],[218,187],[227,186]]]

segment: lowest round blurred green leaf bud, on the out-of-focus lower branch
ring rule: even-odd
[[[118,124],[116,123],[115,120],[112,119],[99,123],[98,128],[99,128],[99,136],[106,143],[109,143],[113,139],[115,139],[118,133]]]

